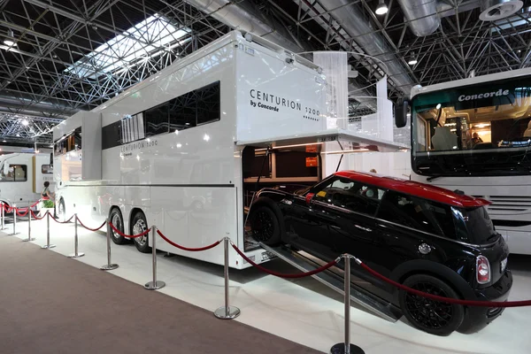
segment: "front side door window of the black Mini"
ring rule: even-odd
[[[319,186],[314,199],[352,212],[374,215],[383,194],[382,189],[358,181],[339,178]]]

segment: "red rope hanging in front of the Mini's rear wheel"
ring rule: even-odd
[[[363,269],[365,269],[367,272],[373,274],[376,278],[381,279],[382,281],[386,281],[389,284],[395,286],[398,289],[403,289],[404,291],[407,291],[408,293],[426,297],[431,300],[439,301],[446,304],[462,304],[465,306],[481,306],[481,307],[522,307],[522,306],[531,306],[531,300],[523,300],[523,301],[505,301],[505,302],[499,302],[499,301],[476,301],[476,300],[461,300],[456,299],[452,297],[444,297],[444,296],[437,296],[433,294],[427,294],[422,291],[412,289],[409,287],[406,287],[404,284],[400,284],[399,282],[392,281],[389,278],[385,277],[384,275],[381,275],[381,273],[378,273],[374,271],[373,269],[369,268],[369,266],[366,266],[364,263],[360,263],[360,265]]]

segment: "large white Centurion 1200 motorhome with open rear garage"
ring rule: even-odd
[[[312,62],[260,38],[225,35],[55,128],[59,209],[94,225],[109,218],[129,235],[156,225],[188,247],[229,236],[248,257],[266,261],[265,250],[245,242],[243,225],[245,196],[259,178],[319,181],[323,142],[397,149],[327,129],[325,89]],[[127,242],[114,232],[112,240]],[[141,251],[150,244],[135,238]],[[219,249],[189,253],[163,240],[157,245],[223,264]],[[234,252],[230,266],[250,265]]]

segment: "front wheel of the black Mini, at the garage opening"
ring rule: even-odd
[[[267,205],[258,205],[254,208],[250,208],[249,218],[252,237],[268,246],[279,244],[281,242],[281,223],[276,213]]]

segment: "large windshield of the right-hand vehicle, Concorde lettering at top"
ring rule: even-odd
[[[426,176],[531,174],[531,77],[415,96],[412,169]]]

